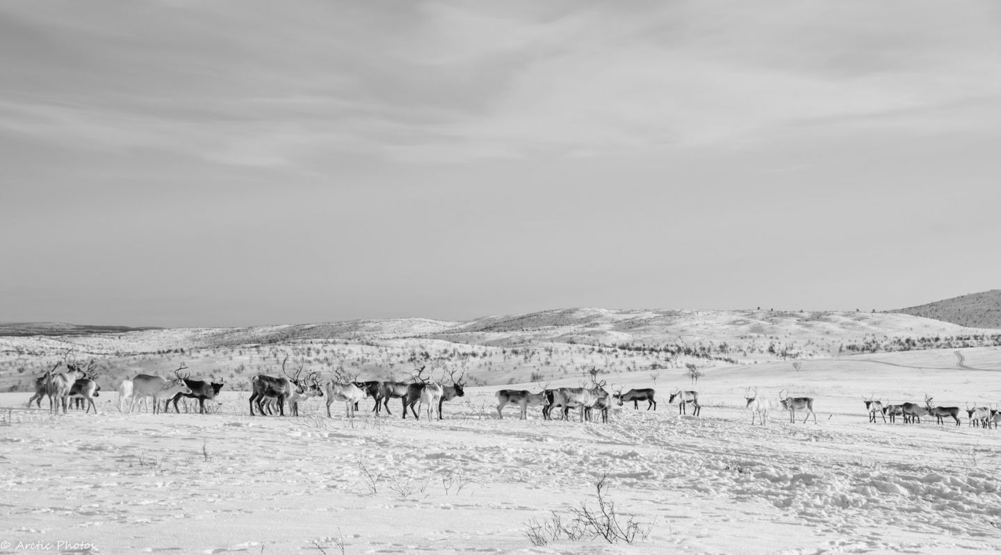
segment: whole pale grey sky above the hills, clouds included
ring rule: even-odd
[[[998,288],[993,0],[0,3],[0,321]]]

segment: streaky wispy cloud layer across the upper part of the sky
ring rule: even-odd
[[[99,6],[99,4],[98,4]],[[116,6],[118,6],[116,4]],[[997,122],[989,1],[0,8],[0,132],[237,165],[705,146]]]

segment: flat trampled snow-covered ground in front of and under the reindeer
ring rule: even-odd
[[[370,400],[353,422],[342,403],[327,419],[322,400],[297,419],[251,418],[233,392],[205,416],[122,414],[105,392],[97,416],[52,418],[6,393],[0,553],[996,552],[1001,430],[965,412],[960,427],[870,424],[861,399],[1001,401],[1001,351],[964,355],[969,368],[922,351],[707,369],[698,418],[668,404],[689,384],[664,376],[656,412],[617,407],[608,424],[538,408],[498,419],[498,387],[469,388],[443,421],[402,420],[398,401],[374,417]],[[773,402],[782,388],[815,397],[818,423],[773,411],[751,426],[748,386]],[[649,535],[530,541],[532,523],[597,508],[604,474],[620,520]]]

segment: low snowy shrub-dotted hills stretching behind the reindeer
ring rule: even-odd
[[[19,324],[21,331],[31,330]],[[258,373],[332,370],[363,379],[408,379],[426,366],[471,385],[586,377],[588,371],[660,372],[925,349],[1001,345],[1001,333],[900,313],[577,308],[467,322],[419,318],[247,328],[84,333],[44,324],[48,335],[0,337],[0,390],[24,391],[63,360],[97,362],[102,387],[137,373],[195,376],[249,387]],[[101,328],[97,328],[101,329]]]

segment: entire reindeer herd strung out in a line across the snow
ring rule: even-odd
[[[376,415],[385,410],[386,414],[391,416],[389,402],[392,399],[399,399],[402,418],[406,418],[409,410],[414,419],[419,419],[421,414],[426,414],[428,419],[432,419],[436,414],[440,420],[444,402],[465,394],[465,383],[462,381],[464,372],[458,376],[455,376],[454,372],[448,372],[451,384],[443,385],[433,380],[429,374],[425,375],[424,366],[414,370],[409,382],[358,381],[358,375],[343,374],[335,370],[333,379],[321,385],[319,373],[309,372],[303,376],[302,366],[294,374],[288,374],[285,370],[287,360],[288,357],[285,357],[281,363],[280,377],[260,374],[250,380],[250,416],[275,413],[284,416],[286,405],[291,416],[298,416],[300,401],[310,397],[325,397],[326,414],[330,418],[332,418],[330,405],[334,402],[343,402],[345,416],[353,418],[358,403],[365,398],[371,398],[375,402],[371,411]],[[66,371],[57,372],[63,364],[66,365]],[[178,401],[189,398],[198,401],[200,413],[206,412],[205,401],[214,400],[224,384],[221,381],[214,383],[192,380],[190,375],[181,374],[185,368],[183,364],[180,365],[174,370],[173,378],[137,374],[131,379],[123,380],[118,387],[118,409],[124,411],[123,403],[128,401],[128,412],[131,412],[137,401],[144,403],[146,400],[152,400],[154,414],[169,412],[171,403],[174,411],[179,412]],[[630,389],[623,392],[622,388],[613,387],[613,392],[609,393],[606,389],[606,380],[598,380],[598,374],[599,371],[592,369],[591,381],[582,382],[581,387],[576,388],[550,388],[550,384],[547,383],[535,393],[524,389],[502,389],[494,394],[497,401],[497,417],[504,419],[504,409],[507,406],[518,407],[522,420],[528,418],[528,411],[533,407],[542,407],[545,420],[553,420],[553,409],[560,409],[558,414],[561,420],[570,420],[571,409],[577,409],[582,422],[591,421],[595,411],[601,415],[603,422],[608,422],[609,408],[613,405],[621,407],[630,402],[633,403],[634,409],[639,409],[640,402],[646,401],[646,410],[657,410],[656,391],[653,388]],[[97,405],[94,403],[94,398],[100,395],[101,390],[97,377],[94,361],[84,367],[82,364],[66,361],[64,357],[63,361],[56,363],[51,370],[35,380],[35,393],[28,400],[28,406],[35,403],[40,408],[42,398],[47,396],[50,411],[58,412],[61,406],[65,413],[68,404],[73,401],[78,409],[85,406],[86,412],[89,413],[93,409],[96,414]],[[440,382],[445,381],[443,377],[442,374]],[[946,419],[952,419],[956,426],[961,425],[959,407],[936,406],[933,403],[934,399],[928,395],[925,395],[924,404],[910,402],[889,404],[886,401],[874,400],[873,397],[871,395],[868,399],[865,396],[862,398],[870,423],[877,422],[880,417],[884,423],[894,423],[900,416],[904,423],[920,424],[922,416],[934,416],[939,424],[943,424]],[[773,409],[772,402],[760,395],[757,387],[753,390],[747,388],[744,399],[745,407],[751,413],[751,424],[754,425],[756,421],[762,425],[766,424],[769,412]],[[702,405],[697,391],[676,389],[669,394],[668,404],[674,404],[676,401],[680,415],[687,415],[690,405],[693,416],[701,415]],[[789,412],[789,421],[792,423],[796,422],[797,412],[804,413],[804,423],[811,416],[814,423],[817,423],[812,397],[793,397],[783,390],[779,393],[778,405],[783,411]],[[996,408],[976,407],[967,403],[965,410],[970,426],[989,429],[992,425],[997,428],[1001,424],[1001,411]]]

